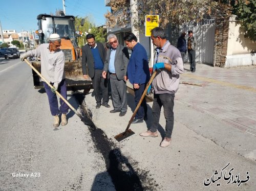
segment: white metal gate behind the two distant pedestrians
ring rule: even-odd
[[[183,25],[179,28],[168,27],[169,41],[177,47],[177,40],[180,34],[185,31],[193,31],[198,46],[196,48],[196,62],[214,63],[214,43],[215,43],[215,19],[202,19],[196,25]],[[188,35],[186,34],[186,39]],[[188,62],[188,56],[185,56]]]

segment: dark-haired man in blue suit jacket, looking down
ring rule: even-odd
[[[132,55],[127,66],[127,78],[133,84],[135,93],[135,104],[138,105],[145,90],[146,83],[150,80],[150,68],[148,67],[146,50],[137,42],[137,37],[133,33],[127,34],[123,38],[126,46],[132,49]],[[143,99],[132,123],[142,123],[143,118],[147,119],[146,100]]]

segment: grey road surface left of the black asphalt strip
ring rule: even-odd
[[[54,129],[46,93],[33,88],[31,69],[19,59],[0,58],[0,190],[100,190],[113,188],[80,118]],[[68,100],[78,103],[69,92]],[[28,174],[28,177],[20,174]]]

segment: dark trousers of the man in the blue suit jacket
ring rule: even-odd
[[[134,93],[135,93],[135,104],[136,107],[141,99],[141,96],[143,94],[143,91],[145,90],[145,84],[140,84],[140,88],[139,89],[134,89]],[[146,107],[146,99],[144,97],[143,101],[141,102],[141,105],[135,115],[135,118],[143,118],[144,116],[147,115],[147,107]]]

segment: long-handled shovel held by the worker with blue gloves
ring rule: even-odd
[[[132,115],[132,117],[131,117],[131,120],[129,121],[129,123],[128,123],[126,129],[125,129],[125,131],[122,132],[122,133],[120,133],[120,134],[118,134],[118,135],[116,135],[116,136],[114,137],[118,142],[120,142],[121,140],[123,140],[123,139],[125,139],[125,138],[127,138],[127,137],[129,137],[129,136],[131,136],[131,135],[133,135],[133,134],[135,134],[131,129],[129,129],[129,127],[131,126],[131,124],[132,124],[132,122],[133,122],[133,119],[134,119],[134,117],[135,117],[135,115],[136,115],[136,113],[137,113],[137,111],[138,111],[138,109],[139,109],[139,107],[140,107],[140,104],[142,103],[142,101],[143,101],[143,99],[144,99],[144,97],[145,97],[145,95],[146,95],[147,89],[148,89],[148,87],[150,87],[150,84],[152,83],[152,81],[153,81],[153,79],[155,78],[156,74],[157,74],[157,70],[154,71],[153,75],[152,75],[151,78],[150,78],[150,81],[147,83],[147,86],[146,86],[145,90],[144,90],[143,93],[142,93],[142,96],[141,96],[141,98],[140,98],[140,101],[139,101],[139,103],[138,103],[136,109],[134,110],[133,115]]]

